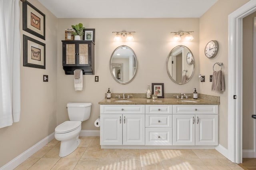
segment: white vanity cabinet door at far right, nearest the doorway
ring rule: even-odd
[[[196,115],[196,145],[218,145],[218,115]]]

